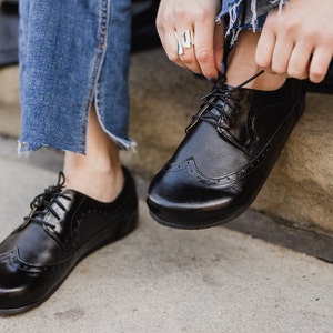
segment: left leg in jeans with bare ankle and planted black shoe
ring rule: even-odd
[[[20,148],[64,150],[64,174],[0,244],[0,314],[41,304],[82,258],[137,225],[134,181],[119,159],[131,145],[130,4],[20,1]]]

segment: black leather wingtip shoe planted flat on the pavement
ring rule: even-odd
[[[135,228],[134,181],[123,171],[124,188],[111,203],[63,189],[61,176],[36,196],[24,223],[0,244],[0,314],[44,302],[82,258]]]

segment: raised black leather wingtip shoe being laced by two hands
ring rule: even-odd
[[[159,223],[214,226],[255,199],[302,114],[305,92],[294,79],[275,91],[242,88],[249,81],[236,88],[219,81],[204,97],[184,140],[150,184],[147,203]]]

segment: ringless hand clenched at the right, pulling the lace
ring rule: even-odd
[[[333,1],[290,0],[269,14],[256,63],[274,73],[321,82],[333,54]]]

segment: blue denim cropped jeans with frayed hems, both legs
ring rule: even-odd
[[[283,0],[223,0],[232,42]],[[85,153],[89,110],[120,148],[128,138],[131,0],[20,0],[19,151]]]

